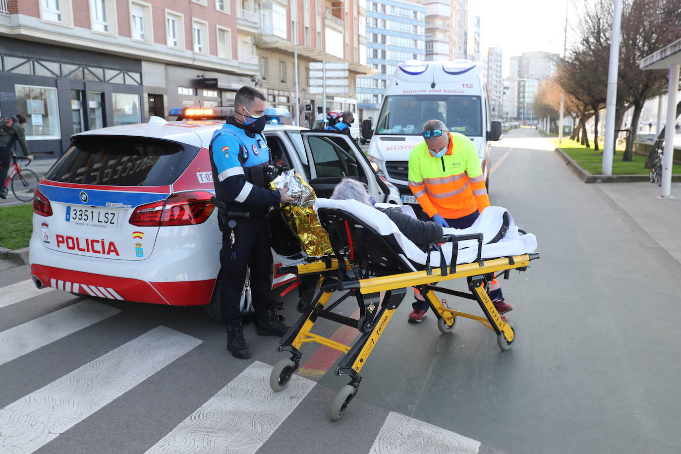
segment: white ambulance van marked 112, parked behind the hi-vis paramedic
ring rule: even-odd
[[[398,187],[404,204],[417,205],[408,186],[409,152],[423,140],[424,123],[434,119],[471,139],[489,187],[491,141],[501,137],[501,121],[490,118],[480,66],[468,60],[409,60],[397,65],[385,90],[367,153],[377,174]]]

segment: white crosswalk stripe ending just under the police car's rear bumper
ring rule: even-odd
[[[87,300],[2,331],[0,364],[26,355],[118,312],[121,311]]]

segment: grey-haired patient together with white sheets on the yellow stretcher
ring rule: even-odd
[[[432,222],[419,221],[409,215],[398,212],[399,208],[379,208],[385,216],[377,214],[372,207],[366,187],[356,180],[343,180],[340,187],[343,192],[334,191],[332,199],[317,199],[315,210],[318,208],[336,208],[351,212],[366,225],[375,229],[381,236],[394,236],[400,246],[401,255],[407,258],[409,266],[416,271],[414,265],[426,265],[426,248],[428,244],[437,242],[443,234],[465,235],[468,233],[482,233],[482,259],[507,257],[533,253],[537,249],[537,238],[531,233],[521,233],[513,223],[513,218],[505,208],[490,206],[485,208],[475,223],[467,229],[443,229]],[[338,187],[337,187],[338,188]],[[354,188],[347,190],[347,188]],[[405,218],[409,218],[407,221]],[[412,222],[413,221],[413,222]],[[403,230],[404,229],[404,230]],[[452,257],[452,243],[441,246],[447,265]],[[471,263],[477,259],[477,241],[466,240],[458,242],[456,263]],[[430,266],[440,265],[439,254],[431,254]]]

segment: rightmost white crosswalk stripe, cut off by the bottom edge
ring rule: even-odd
[[[370,454],[476,454],[480,442],[437,425],[390,412],[385,418]]]

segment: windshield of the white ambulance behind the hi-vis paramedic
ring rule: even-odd
[[[450,132],[482,135],[481,98],[461,95],[394,95],[383,101],[375,134],[421,135],[428,120],[441,120]]]

